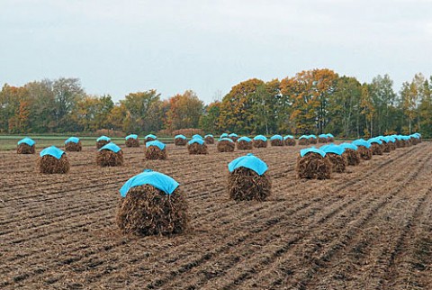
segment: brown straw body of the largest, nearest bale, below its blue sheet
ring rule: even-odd
[[[184,193],[178,187],[166,195],[154,186],[136,186],[121,197],[115,220],[125,234],[171,235],[187,229],[187,208]]]

